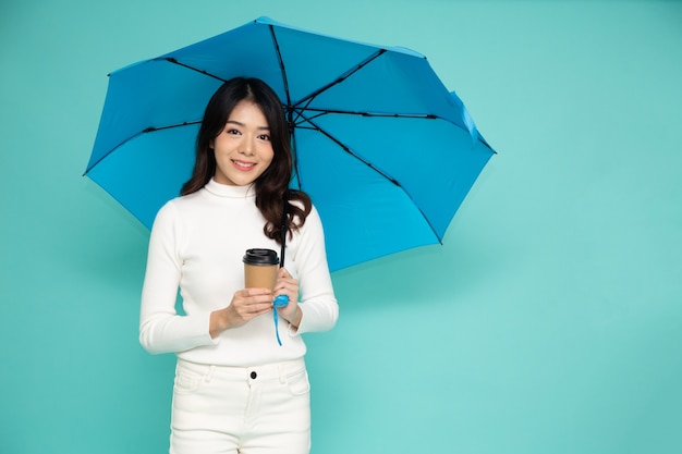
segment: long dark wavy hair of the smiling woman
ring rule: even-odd
[[[216,155],[210,143],[223,131],[234,107],[248,100],[260,108],[270,128],[275,155],[267,170],[255,181],[256,207],[266,219],[263,232],[281,244],[284,204],[290,234],[305,223],[312,203],[302,191],[289,189],[292,171],[289,123],[277,94],[258,78],[232,78],[214,94],[206,106],[196,138],[196,160],[192,177],[182,186],[181,195],[203,188],[216,174]],[[287,201],[284,201],[287,200]]]

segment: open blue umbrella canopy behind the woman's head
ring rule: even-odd
[[[146,226],[179,195],[204,108],[258,77],[292,126],[292,187],[307,192],[331,270],[440,243],[495,152],[426,58],[260,17],[110,74],[86,174]]]

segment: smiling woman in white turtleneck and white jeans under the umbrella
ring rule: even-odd
[[[173,454],[309,452],[301,334],[331,329],[338,305],[319,216],[307,195],[288,191],[291,170],[277,95],[259,79],[224,83],[206,107],[192,177],[155,220],[142,294],[142,345],[178,356]],[[275,290],[243,289],[245,250],[278,250],[285,197],[287,262]],[[273,309],[278,295],[289,303]]]

